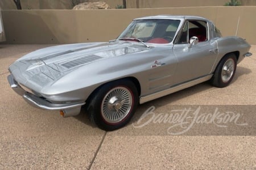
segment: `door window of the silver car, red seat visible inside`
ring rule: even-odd
[[[196,36],[199,42],[207,41],[207,22],[200,20],[189,20],[183,28],[178,44],[188,43],[191,37]]]

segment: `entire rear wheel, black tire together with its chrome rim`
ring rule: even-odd
[[[237,57],[230,53],[224,56],[215,70],[210,80],[211,84],[216,87],[226,87],[232,81],[237,69]]]

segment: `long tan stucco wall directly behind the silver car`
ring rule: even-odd
[[[63,44],[115,39],[133,18],[158,14],[198,15],[212,20],[224,36],[256,44],[256,6],[123,10],[4,10],[9,44]]]

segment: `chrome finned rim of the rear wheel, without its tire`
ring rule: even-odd
[[[235,62],[232,58],[229,58],[223,65],[222,71],[221,71],[221,79],[222,82],[226,83],[228,82],[233,74],[234,74],[234,65]]]

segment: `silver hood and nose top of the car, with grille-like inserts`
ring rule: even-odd
[[[10,65],[9,70],[20,84],[39,92],[81,66],[147,49],[143,44],[126,41],[51,46],[26,54]]]

